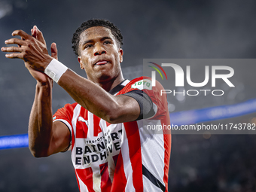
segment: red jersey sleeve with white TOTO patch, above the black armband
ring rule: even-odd
[[[152,108],[154,113],[152,113],[151,117],[143,117],[144,119],[161,119],[166,116],[166,112],[168,111],[167,98],[166,94],[163,96],[160,95],[163,86],[158,81],[156,82],[156,86],[152,86],[151,78],[136,78],[133,81],[130,81],[118,95],[129,93],[133,90],[142,90],[153,102]]]

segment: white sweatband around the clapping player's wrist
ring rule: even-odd
[[[44,69],[44,73],[58,83],[59,78],[68,68],[56,59],[52,59],[49,65]]]

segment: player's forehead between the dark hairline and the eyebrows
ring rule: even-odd
[[[83,41],[93,40],[96,38],[103,38],[103,37],[109,37],[114,39],[114,35],[111,33],[111,29],[108,29],[104,26],[93,26],[81,33],[79,44],[81,44],[81,42]]]

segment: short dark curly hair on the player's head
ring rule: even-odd
[[[93,26],[104,26],[108,29],[111,29],[111,33],[116,38],[118,46],[121,47],[123,45],[123,35],[121,34],[120,29],[118,29],[117,26],[115,26],[113,23],[111,23],[108,20],[100,19],[87,20],[84,23],[82,23],[81,26],[78,27],[78,29],[73,34],[72,48],[77,56],[81,33]]]

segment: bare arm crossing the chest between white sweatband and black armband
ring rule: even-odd
[[[136,99],[124,95],[112,96],[71,70],[62,75],[58,84],[81,106],[108,123],[123,123],[139,117],[140,108]]]

